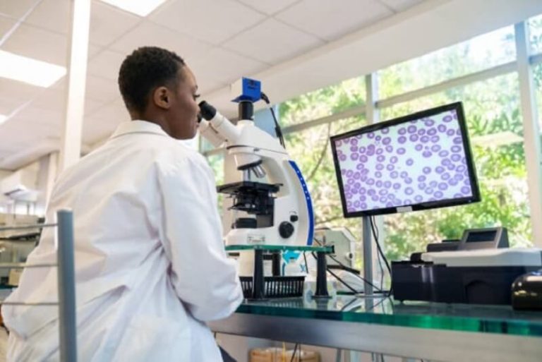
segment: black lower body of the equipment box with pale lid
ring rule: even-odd
[[[396,301],[441,303],[512,303],[514,279],[540,267],[447,267],[433,263],[392,262]]]

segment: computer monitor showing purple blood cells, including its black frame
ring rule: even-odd
[[[461,102],[331,137],[344,217],[480,200]]]

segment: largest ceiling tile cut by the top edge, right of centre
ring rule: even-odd
[[[340,6],[329,0],[303,0],[275,17],[332,41],[390,15],[392,11],[376,0],[342,0]]]

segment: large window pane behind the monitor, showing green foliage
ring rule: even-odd
[[[397,104],[383,109],[383,118],[458,100],[464,104],[482,200],[385,217],[385,244],[392,260],[423,251],[427,243],[459,239],[464,229],[495,224],[508,228],[511,246],[531,246],[517,73]]]

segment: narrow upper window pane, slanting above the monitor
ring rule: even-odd
[[[505,64],[515,56],[514,28],[495,30],[379,71],[380,99]]]

